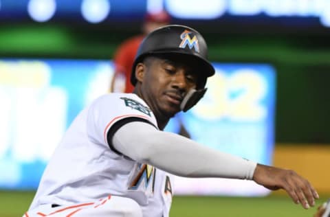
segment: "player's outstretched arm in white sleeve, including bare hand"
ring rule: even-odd
[[[188,177],[252,179],[270,190],[283,189],[295,203],[314,206],[314,187],[293,170],[256,164],[219,152],[174,133],[155,129],[144,122],[125,124],[113,135],[115,150],[140,163]]]

